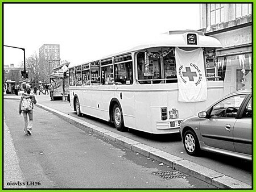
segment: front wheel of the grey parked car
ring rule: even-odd
[[[183,136],[183,144],[188,155],[199,155],[200,145],[195,132],[191,130],[186,131]]]

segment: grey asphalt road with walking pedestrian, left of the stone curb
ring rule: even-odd
[[[95,133],[81,130],[39,107],[35,107],[32,136],[24,136],[18,102],[4,101],[5,129],[6,133],[10,131],[14,144],[14,148],[8,150],[15,150],[27,188],[214,188],[191,176],[170,180],[156,176],[154,173],[172,169]]]

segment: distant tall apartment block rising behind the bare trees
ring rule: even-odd
[[[49,66],[49,74],[52,69],[60,65],[60,45],[59,44],[43,44],[39,48],[39,59]]]

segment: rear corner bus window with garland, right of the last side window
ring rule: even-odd
[[[139,84],[159,84],[161,82],[161,62],[160,58],[155,55],[159,55],[159,53],[149,51],[138,53],[137,69]]]

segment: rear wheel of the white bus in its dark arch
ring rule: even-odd
[[[114,123],[118,131],[126,131],[123,120],[122,107],[117,99],[112,99],[109,105],[110,122]],[[118,117],[118,118],[117,118]]]

